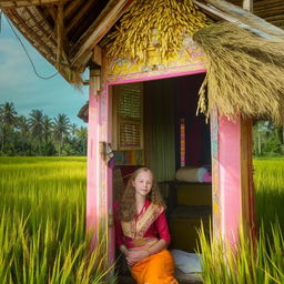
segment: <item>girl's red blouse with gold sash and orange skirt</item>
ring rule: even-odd
[[[116,213],[118,203],[114,204]],[[114,214],[116,246],[129,250],[145,250],[163,239],[171,242],[164,209],[146,200],[138,216],[130,222],[121,222]],[[158,239],[159,237],[159,239]],[[173,257],[168,250],[152,254],[130,267],[138,284],[178,284]]]

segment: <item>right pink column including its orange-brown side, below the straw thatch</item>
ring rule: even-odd
[[[239,241],[240,226],[254,222],[254,203],[252,194],[247,194],[253,192],[253,184],[250,133],[244,132],[245,123],[241,116],[234,121],[217,116],[217,132],[214,132],[217,149],[212,153],[217,154],[213,156],[213,171],[216,170],[213,172],[213,224],[217,226],[213,230],[215,236],[221,235],[231,245]]]

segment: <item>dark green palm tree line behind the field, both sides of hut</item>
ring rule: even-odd
[[[12,102],[0,104],[0,155],[87,155],[85,126],[70,123],[65,114],[51,119],[41,110],[18,115]],[[253,154],[284,154],[284,128],[270,121],[253,125]]]

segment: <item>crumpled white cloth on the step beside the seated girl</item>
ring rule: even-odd
[[[171,250],[170,251],[175,263],[175,267],[181,270],[183,273],[200,273],[201,264],[200,260],[202,255],[195,253],[187,253],[181,250]]]

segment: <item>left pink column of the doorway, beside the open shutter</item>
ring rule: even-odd
[[[91,71],[89,93],[87,231],[92,248],[104,237],[103,250],[114,262],[112,221],[112,169],[108,166],[105,145],[111,141],[111,103],[106,84],[97,93],[98,78]],[[101,234],[99,234],[101,233]]]

